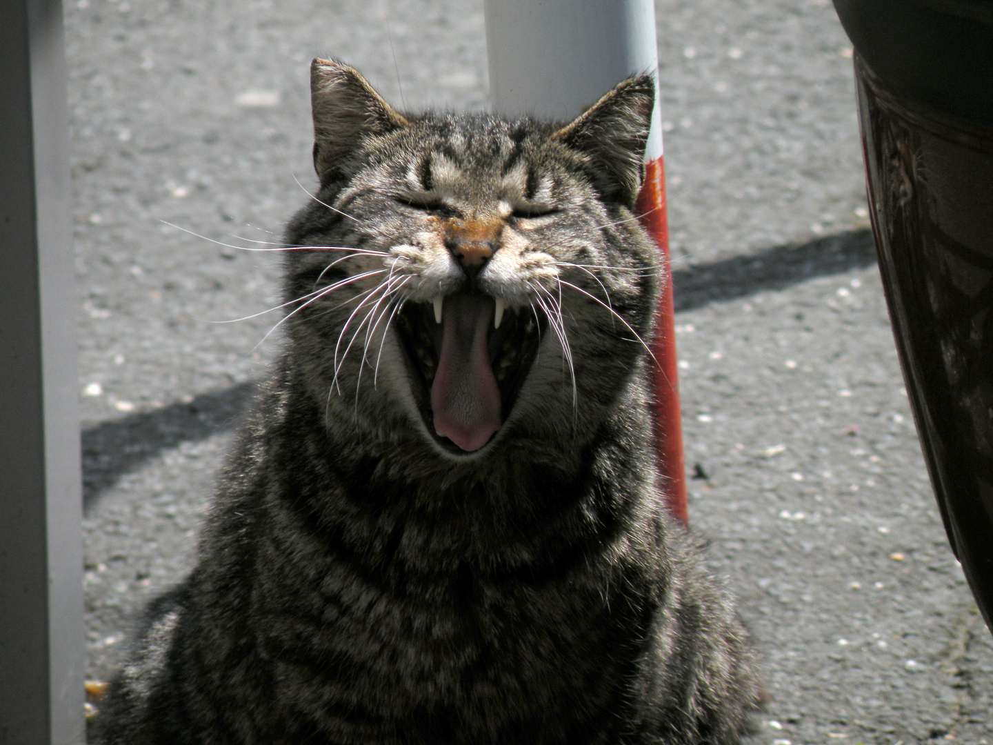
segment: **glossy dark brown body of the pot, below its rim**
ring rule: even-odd
[[[895,92],[859,54],[855,74],[907,390],[948,538],[993,629],[993,127]]]

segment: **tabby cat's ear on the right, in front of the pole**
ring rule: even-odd
[[[584,111],[552,139],[579,150],[605,199],[635,206],[644,178],[655,84],[651,75],[630,77]]]

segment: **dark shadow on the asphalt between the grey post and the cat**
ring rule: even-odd
[[[254,381],[239,382],[82,430],[83,512],[121,476],[163,450],[232,428],[254,392]]]

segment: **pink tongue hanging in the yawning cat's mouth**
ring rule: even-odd
[[[493,298],[445,298],[431,410],[435,431],[467,452],[486,445],[500,425],[499,389],[487,351],[493,317]]]

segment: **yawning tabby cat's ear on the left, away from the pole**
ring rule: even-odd
[[[321,186],[352,175],[362,140],[409,126],[355,68],[337,60],[311,63],[311,109]]]

